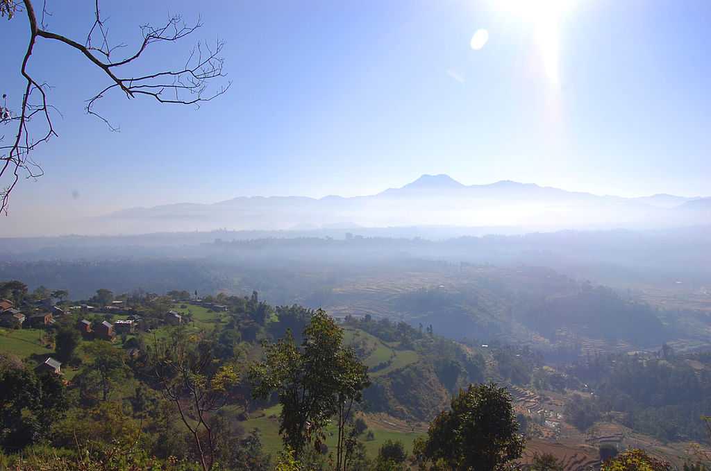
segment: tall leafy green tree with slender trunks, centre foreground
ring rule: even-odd
[[[309,443],[321,448],[324,428],[338,414],[337,465],[342,466],[348,445],[343,430],[353,404],[369,384],[367,369],[343,347],[343,329],[324,310],[314,313],[303,338],[301,346],[296,345],[289,331],[277,343],[264,346],[264,361],[250,367],[253,395],[261,399],[274,392],[279,395],[279,433],[297,457]]]

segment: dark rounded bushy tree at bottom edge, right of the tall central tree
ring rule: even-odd
[[[493,471],[520,458],[523,443],[506,388],[472,384],[434,418],[415,454],[451,470]]]

